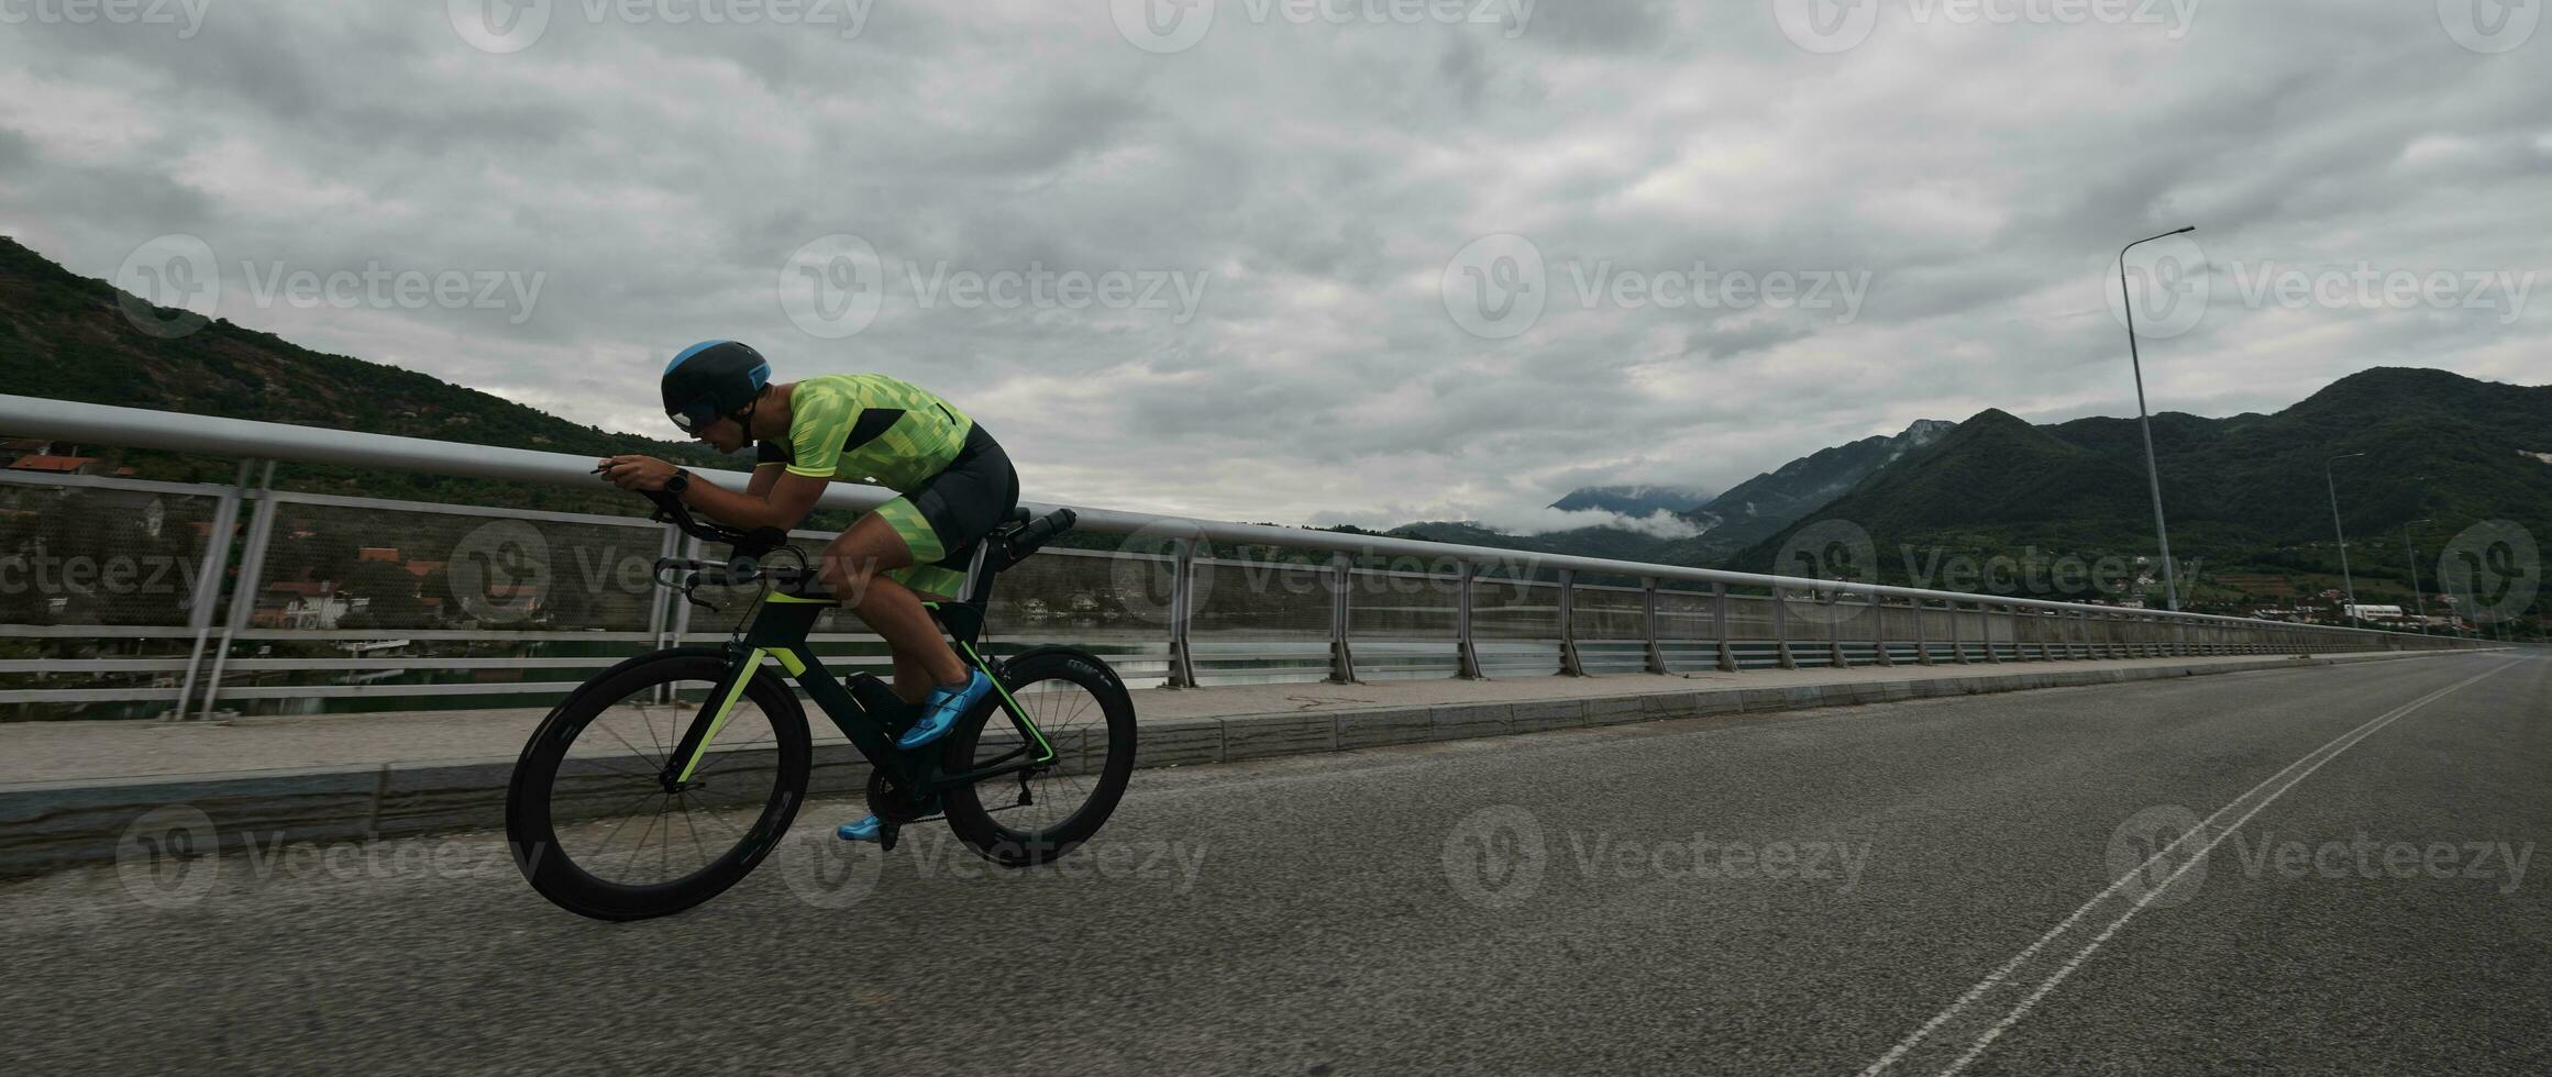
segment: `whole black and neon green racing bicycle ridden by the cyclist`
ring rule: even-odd
[[[666,916],[750,873],[806,799],[814,743],[796,689],[868,761],[868,809],[898,827],[947,819],[977,855],[1026,868],[1090,840],[1133,773],[1133,699],[1087,651],[977,651],[993,579],[1072,528],[1072,510],[1018,510],[983,544],[962,602],[926,602],[993,692],[954,730],[896,748],[921,709],[873,674],[835,679],[806,646],[837,600],[776,528],[702,521],[648,493],[656,518],[725,544],[727,561],[658,559],[656,584],[694,605],[702,587],[753,587],[750,625],[725,646],[628,658],[577,687],[531,732],[505,794],[505,837],[533,891],[595,919]],[[794,559],[796,564],[773,564]],[[776,666],[776,669],[771,669]],[[783,679],[786,674],[786,679]],[[829,763],[827,763],[829,766]],[[835,771],[837,773],[837,771]]]

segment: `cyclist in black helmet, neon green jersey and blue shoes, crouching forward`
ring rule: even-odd
[[[957,661],[924,597],[965,587],[975,544],[1018,508],[1018,472],[980,424],[888,375],[822,375],[773,385],[771,362],[732,339],[684,347],[664,368],[664,413],[717,452],[755,447],[753,482],[725,490],[656,457],[602,459],[623,490],[669,490],[735,528],[794,528],[827,482],[873,482],[898,498],[860,516],[819,556],[817,582],[886,638],[896,694],[921,720],[896,745],[921,748],[957,725],[993,679]],[[845,840],[878,837],[878,817]]]

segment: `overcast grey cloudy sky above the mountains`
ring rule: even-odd
[[[0,232],[607,429],[735,337],[1041,500],[1526,528],[2133,413],[2179,225],[2156,408],[2542,383],[2547,5],[0,0]]]

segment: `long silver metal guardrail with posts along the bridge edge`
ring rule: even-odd
[[[602,549],[607,564],[641,564],[684,549],[661,523],[625,516],[538,513],[485,505],[439,505],[273,490],[276,462],[350,464],[536,485],[595,482],[587,457],[493,449],[454,442],[184,416],[143,408],[0,396],[0,431],[84,444],[240,457],[230,485],[148,482],[94,475],[0,472],[0,493],[56,490],[105,498],[100,508],[138,510],[145,526],[54,521],[64,546],[148,544],[168,549],[171,518],[199,523],[191,572],[163,579],[158,610],[110,610],[61,623],[8,602],[0,579],[0,641],[176,641],[184,653],[97,653],[0,658],[0,684],[23,676],[92,676],[107,687],[0,687],[0,704],[140,704],[174,715],[214,715],[222,699],[258,707],[311,707],[319,699],[424,697],[556,697],[577,681],[518,681],[538,671],[600,669],[625,653],[676,641],[720,638],[694,628],[692,607],[653,587],[592,587],[574,595],[577,623],[508,628],[505,618],[444,618],[462,628],[373,625],[329,628],[327,610],[306,625],[260,623],[260,597],[278,584],[271,561],[322,531],[388,533],[403,551],[444,546],[444,559],[406,559],[431,577],[452,572],[449,549],[498,526],[526,526],[538,546],[569,561]],[[704,472],[743,485],[740,472]],[[832,485],[819,508],[865,510],[893,493]],[[23,508],[10,495],[8,518],[43,523],[46,505]],[[176,503],[179,508],[168,508]],[[1036,510],[1054,505],[1028,503]],[[1888,666],[1996,664],[2047,658],[2407,651],[2452,648],[2465,641],[2381,630],[2294,625],[2248,618],[2128,610],[2008,595],[1968,595],[1672,564],[1549,556],[1490,546],[1302,531],[1256,523],[1082,508],[1079,528],[1128,536],[1118,551],[1049,549],[1003,577],[995,628],[1059,633],[1100,646],[1138,679],[1192,687],[1228,679],[1388,679],[1388,676],[1516,676],[1761,666]],[[156,516],[153,516],[156,513]],[[235,544],[242,526],[245,536]],[[337,518],[332,526],[329,518]],[[472,536],[444,541],[457,521]],[[355,523],[345,523],[355,521]],[[398,521],[398,523],[393,523]],[[513,521],[513,523],[503,523]],[[824,533],[801,531],[822,541]],[[179,536],[184,538],[184,536]],[[628,551],[620,551],[625,538]],[[20,546],[26,536],[18,536]],[[237,546],[237,564],[232,564]],[[1141,549],[1138,549],[1141,546]],[[1327,554],[1324,561],[1253,561],[1225,556],[1240,546]],[[1154,554],[1148,549],[1164,549]],[[485,551],[480,551],[485,554]],[[0,551],[5,561],[8,551]],[[77,554],[74,554],[77,556]],[[166,554],[161,554],[166,556]],[[401,554],[393,554],[401,556]],[[419,569],[429,567],[429,569]],[[587,564],[590,567],[590,564]],[[388,569],[375,569],[388,572]],[[1592,579],[1636,579],[1605,584]],[[225,610],[225,579],[227,610]],[[1238,592],[1233,590],[1238,584]],[[475,587],[475,584],[472,584]],[[89,592],[100,587],[92,582]],[[462,597],[454,587],[452,597]],[[148,602],[145,602],[148,605]],[[322,602],[327,605],[327,602]],[[503,610],[498,610],[503,613]],[[145,623],[105,623],[145,620]],[[365,653],[403,641],[429,648],[538,648],[549,653]],[[875,638],[857,625],[819,628],[819,643],[850,664],[878,661]],[[329,656],[240,653],[332,646]],[[304,676],[332,676],[309,684]],[[413,674],[470,674],[470,681],[411,684]],[[1148,674],[1148,676],[1146,676]],[[263,681],[263,684],[260,684]]]

